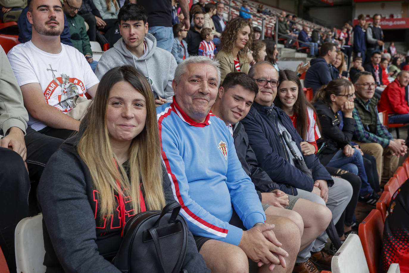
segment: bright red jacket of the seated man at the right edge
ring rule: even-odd
[[[386,110],[388,114],[408,114],[409,106],[405,99],[405,86],[401,86],[396,79],[383,90],[378,103],[380,112]]]

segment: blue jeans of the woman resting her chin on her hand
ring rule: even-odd
[[[354,148],[354,150],[355,152],[350,157],[346,157],[343,150],[337,151],[330,162],[328,162],[327,166],[344,169],[353,174],[357,174],[361,178],[362,182],[360,194],[361,196],[364,196],[373,192],[373,189],[368,183],[362,155],[357,149]]]

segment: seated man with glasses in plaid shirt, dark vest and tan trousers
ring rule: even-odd
[[[372,73],[357,73],[353,83],[356,95],[352,112],[355,120],[353,138],[364,153],[375,157],[380,182],[387,183],[398,168],[398,157],[404,156],[407,151],[405,140],[394,139],[379,119],[378,99],[373,97],[376,83]]]

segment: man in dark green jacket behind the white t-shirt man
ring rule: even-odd
[[[95,72],[97,61],[92,59],[90,38],[87,35],[87,29],[85,29],[85,20],[77,14],[82,9],[82,0],[63,0],[63,2],[63,10],[70,27],[72,46],[85,56],[85,59],[91,65],[92,71]]]

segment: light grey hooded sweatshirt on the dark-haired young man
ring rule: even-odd
[[[156,38],[152,34],[147,33],[144,42],[147,45],[146,52],[138,58],[126,48],[124,40],[120,38],[113,48],[102,54],[95,74],[101,80],[101,77],[111,68],[131,65],[149,78],[153,91],[167,99],[167,102],[172,102],[172,80],[178,66],[175,57],[170,52],[156,47]]]

